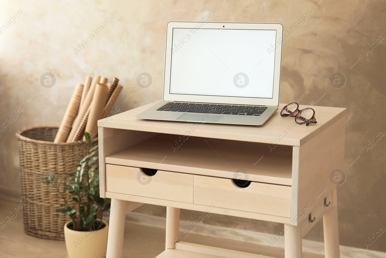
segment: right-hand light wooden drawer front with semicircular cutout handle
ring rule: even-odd
[[[251,182],[241,188],[232,179],[195,175],[194,203],[291,217],[291,186]]]

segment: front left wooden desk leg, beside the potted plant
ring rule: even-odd
[[[126,201],[111,199],[106,258],[122,258]]]

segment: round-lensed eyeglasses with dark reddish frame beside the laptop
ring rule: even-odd
[[[289,103],[283,109],[281,109],[280,115],[282,117],[295,116],[295,122],[299,125],[309,125],[310,123],[316,124],[315,110],[312,108],[299,109],[298,103]]]

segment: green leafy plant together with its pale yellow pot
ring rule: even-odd
[[[111,199],[99,196],[98,139],[91,140],[85,132],[86,142],[78,149],[79,164],[68,182],[59,182],[54,173],[42,178],[58,192],[64,203],[57,212],[69,215],[64,225],[64,239],[71,258],[103,258],[107,247],[107,217],[102,212],[110,208]],[[53,182],[53,183],[52,183]]]

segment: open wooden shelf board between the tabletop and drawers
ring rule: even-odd
[[[292,185],[292,146],[159,134],[105,158],[108,164]]]

